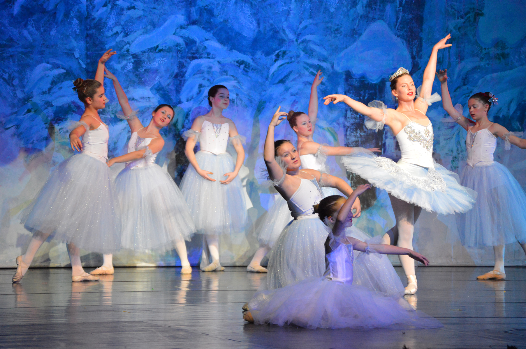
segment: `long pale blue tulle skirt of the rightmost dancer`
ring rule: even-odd
[[[526,241],[526,195],[504,165],[467,165],[461,183],[479,195],[472,210],[457,215],[464,246],[496,246]]]

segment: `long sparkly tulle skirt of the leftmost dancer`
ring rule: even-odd
[[[120,208],[108,166],[86,154],[60,163],[22,217],[24,227],[77,247],[112,253],[120,245]]]

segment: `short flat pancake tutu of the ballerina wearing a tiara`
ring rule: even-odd
[[[434,164],[434,168],[398,163],[371,152],[342,157],[347,170],[367,179],[391,195],[442,215],[464,213],[473,207],[477,193],[459,184],[457,174]]]

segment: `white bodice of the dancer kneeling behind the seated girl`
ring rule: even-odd
[[[301,178],[298,189],[290,199],[287,200],[290,215],[297,219],[299,216],[313,216],[313,205],[316,205],[323,198],[320,187],[316,178],[309,179]]]

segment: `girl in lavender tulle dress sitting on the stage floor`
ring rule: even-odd
[[[369,328],[393,324],[418,328],[442,326],[437,320],[413,311],[400,297],[382,297],[352,284],[353,249],[366,253],[374,251],[407,255],[424,265],[429,263],[426,257],[407,248],[368,245],[346,237],[345,230],[352,224],[352,204],[368,188],[369,184],[360,185],[347,200],[333,195],[315,205],[319,218],[332,226],[325,241],[326,269],[323,277],[310,278],[276,290],[257,292],[248,302],[245,320],[280,326],[292,323],[309,329]],[[350,245],[351,253],[346,245]]]

